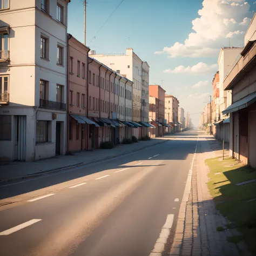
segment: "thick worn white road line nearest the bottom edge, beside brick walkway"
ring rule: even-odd
[[[173,218],[174,218],[174,214],[167,215],[165,224],[161,229],[159,238],[157,239],[156,244],[154,244],[154,248],[153,248],[153,251],[150,253],[150,256],[158,256],[158,255],[160,256],[161,253],[164,251],[165,244],[171,232]]]

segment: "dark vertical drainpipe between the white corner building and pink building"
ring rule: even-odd
[[[70,58],[70,48],[69,40],[72,38],[72,35],[67,34],[67,45],[66,45],[66,153],[69,152],[69,58]]]

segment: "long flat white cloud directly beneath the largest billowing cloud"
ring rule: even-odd
[[[211,72],[216,72],[218,70],[218,65],[217,64],[212,64],[208,65],[203,62],[199,62],[198,64],[194,66],[177,66],[175,69],[167,69],[164,70],[164,73],[186,73],[186,74],[192,74],[192,75],[200,75],[204,73],[211,73]]]

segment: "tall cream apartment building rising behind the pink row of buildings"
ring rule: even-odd
[[[122,74],[124,77],[132,80],[132,122],[135,122],[135,125],[138,126],[138,122],[142,121],[142,83],[143,78],[145,86],[147,85],[147,81],[149,81],[149,65],[144,63],[136,53],[133,52],[132,48],[127,48],[124,54],[104,55],[96,54],[96,51],[91,51],[90,57],[97,59],[118,74]],[[145,70],[144,77],[143,68]],[[144,97],[147,97],[146,94]],[[146,106],[144,111],[147,111]],[[140,125],[140,127],[142,126]],[[133,136],[140,138],[142,136],[142,129],[137,128],[138,127],[134,127]]]

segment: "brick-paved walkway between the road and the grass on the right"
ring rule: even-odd
[[[222,144],[212,136],[204,135],[200,139],[194,157],[192,171],[188,174],[188,190],[184,193],[180,205],[176,234],[170,255],[190,256],[238,256],[250,255],[243,242],[238,247],[227,241],[227,238],[240,233],[233,230],[218,232],[218,226],[227,225],[227,220],[216,209],[208,191],[208,167],[205,159],[222,156]],[[227,147],[227,145],[225,145]],[[225,157],[229,151],[225,150]],[[186,188],[185,188],[186,190]]]

